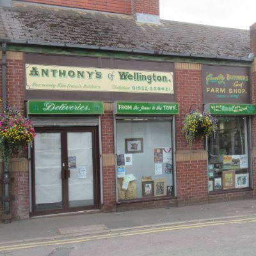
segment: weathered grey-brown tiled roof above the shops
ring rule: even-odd
[[[0,39],[247,58],[250,32],[185,22],[136,22],[128,15],[20,5],[0,8]]]

